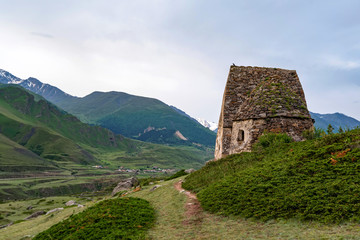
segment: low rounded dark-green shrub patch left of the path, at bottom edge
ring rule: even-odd
[[[145,239],[154,220],[148,201],[115,198],[72,215],[33,239]]]

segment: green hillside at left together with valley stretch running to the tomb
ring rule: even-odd
[[[37,157],[58,165],[72,162],[107,164],[112,168],[123,163],[199,167],[212,154],[206,148],[176,148],[134,141],[100,126],[84,124],[17,86],[0,88],[0,133]],[[155,150],[158,152],[154,153]]]

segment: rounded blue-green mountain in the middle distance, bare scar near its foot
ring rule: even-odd
[[[167,129],[178,130],[188,139],[187,143],[179,141],[176,144],[188,145],[195,142],[209,147],[215,145],[214,132],[157,99],[121,92],[94,92],[84,98],[64,99],[57,102],[57,105],[84,122],[99,124],[126,137],[174,144],[168,138],[158,139],[156,131]],[[141,137],[146,131],[149,131],[147,137]]]

